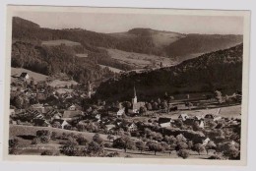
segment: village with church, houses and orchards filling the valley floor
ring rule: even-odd
[[[58,144],[55,152],[42,150],[41,155],[239,158],[240,92],[224,96],[216,90],[215,95],[185,94],[182,99],[165,93],[140,101],[136,85],[133,89],[130,101],[109,103],[92,99],[96,89],[91,82],[12,76],[10,133],[12,128],[38,129],[33,135],[11,134],[10,153],[26,154],[19,146],[52,142]]]

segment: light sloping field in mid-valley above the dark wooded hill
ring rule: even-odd
[[[125,52],[117,49],[106,49],[111,58],[120,61],[121,63],[131,65],[138,69],[145,68],[147,66],[152,66],[155,63],[156,65],[162,63],[163,67],[172,66],[174,62],[165,57],[156,56],[156,55],[147,55],[142,53],[135,52]]]

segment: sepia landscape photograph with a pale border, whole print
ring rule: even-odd
[[[244,164],[249,14],[9,6],[6,157]]]

